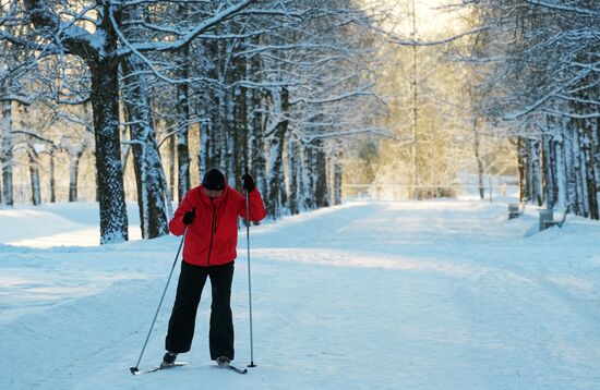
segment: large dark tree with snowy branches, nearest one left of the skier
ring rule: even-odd
[[[36,40],[46,42],[38,48],[37,57],[67,51],[83,59],[88,66],[100,205],[100,243],[121,242],[128,239],[119,139],[119,65],[130,56],[144,59],[143,52],[178,50],[213,25],[241,12],[253,2],[239,1],[219,9],[219,13],[194,28],[182,32],[183,34],[171,29],[172,34],[165,35],[175,35],[177,39],[161,40],[158,45],[149,40],[131,42],[121,31],[122,16],[123,13],[127,14],[128,9],[152,7],[153,1],[91,2],[84,4],[81,10],[61,2],[23,2],[23,11],[28,14],[28,21],[35,26]],[[152,26],[149,29],[160,31]]]

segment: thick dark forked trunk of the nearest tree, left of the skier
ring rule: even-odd
[[[36,29],[60,31],[60,17],[46,2],[24,1],[31,22]],[[123,187],[123,166],[119,136],[119,63],[113,56],[118,37],[112,21],[108,17],[113,7],[110,2],[98,3],[98,23],[91,40],[64,34],[62,44],[70,52],[86,61],[89,66],[92,90],[89,100],[94,118],[96,142],[97,195],[100,208],[100,244],[119,243],[128,240],[128,216]],[[120,23],[120,14],[112,14]],[[55,33],[51,33],[53,36]],[[98,46],[101,46],[98,48]]]

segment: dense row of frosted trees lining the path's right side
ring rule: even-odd
[[[521,197],[600,218],[600,47],[589,34],[600,14],[585,1],[472,4],[488,36],[472,59],[491,69],[481,112],[518,138]]]

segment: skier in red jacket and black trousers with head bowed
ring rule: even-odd
[[[257,222],[266,216],[263,199],[250,174],[241,179],[249,197],[249,219]],[[170,220],[170,232],[175,235],[185,233],[185,237],[161,367],[172,366],[179,353],[190,351],[196,310],[207,278],[213,294],[208,331],[211,359],[219,366],[228,366],[233,359],[230,296],[238,217],[247,218],[245,197],[227,184],[221,171],[211,169],[204,174],[202,184],[185,194]]]

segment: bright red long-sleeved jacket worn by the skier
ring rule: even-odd
[[[249,195],[250,220],[260,221],[266,211],[261,193],[254,190]],[[211,200],[199,185],[185,194],[169,222],[175,235],[185,231],[183,215],[195,208],[195,218],[185,233],[183,260],[188,264],[208,267],[236,259],[238,245],[238,217],[245,219],[245,196],[226,185],[223,195]]]

